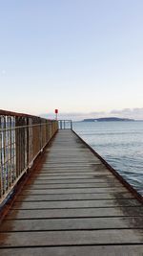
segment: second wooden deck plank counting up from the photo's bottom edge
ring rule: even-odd
[[[130,229],[0,233],[0,246],[142,244],[143,232]]]

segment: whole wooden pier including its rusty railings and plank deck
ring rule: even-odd
[[[72,121],[0,115],[1,256],[143,255],[143,198]]]

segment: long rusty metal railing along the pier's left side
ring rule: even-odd
[[[32,166],[58,122],[0,110],[0,203]]]

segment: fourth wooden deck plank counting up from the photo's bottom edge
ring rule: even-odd
[[[117,217],[142,216],[143,207],[109,207],[109,208],[77,208],[77,209],[31,209],[10,210],[6,219],[53,219],[53,218],[83,218],[83,217]]]

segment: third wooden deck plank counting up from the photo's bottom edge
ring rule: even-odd
[[[117,228],[143,228],[142,217],[7,220],[3,221],[1,224],[0,232],[39,230],[92,230]]]

